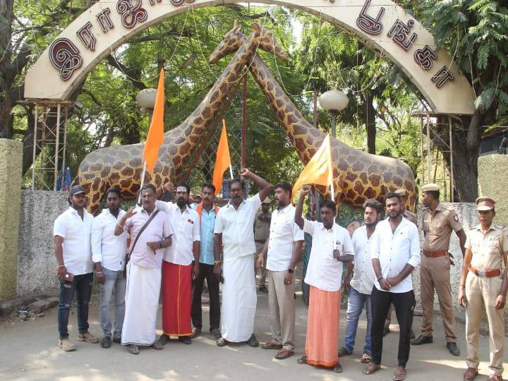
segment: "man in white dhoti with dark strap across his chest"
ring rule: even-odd
[[[131,229],[131,256],[127,265],[126,310],[121,344],[129,352],[139,353],[138,346],[162,349],[157,342],[155,323],[161,286],[164,250],[171,245],[171,225],[164,212],[155,209],[157,192],[152,184],[141,189],[143,207],[129,210],[116,224],[115,235]]]

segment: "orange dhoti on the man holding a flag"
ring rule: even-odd
[[[323,291],[310,286],[307,319],[306,362],[333,368],[339,363],[340,290]]]

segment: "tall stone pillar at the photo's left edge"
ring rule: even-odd
[[[16,296],[23,144],[0,139],[0,300]]]

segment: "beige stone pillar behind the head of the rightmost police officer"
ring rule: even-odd
[[[485,155],[478,157],[478,194],[497,201],[495,220],[508,226],[508,155]]]

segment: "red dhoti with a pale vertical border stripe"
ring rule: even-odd
[[[191,336],[192,265],[162,261],[162,330],[167,336]]]

